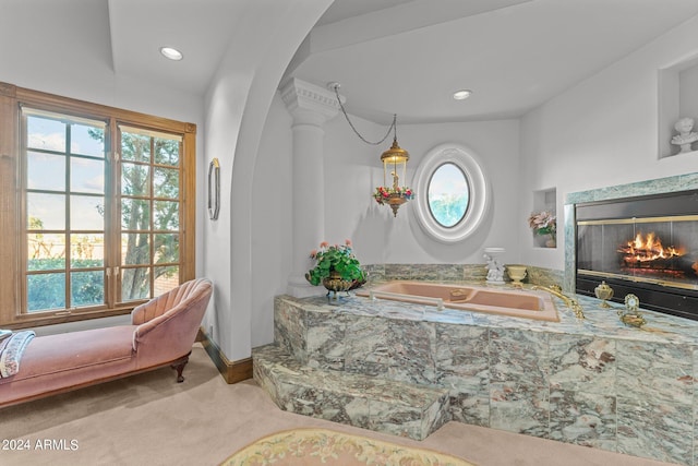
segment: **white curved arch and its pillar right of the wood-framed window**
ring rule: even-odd
[[[250,357],[257,333],[253,320],[260,318],[253,315],[252,243],[254,222],[265,212],[252,205],[256,190],[265,186],[254,170],[264,124],[286,65],[330,2],[251,2],[231,25],[230,48],[206,94],[206,164],[220,159],[222,205],[218,220],[204,225],[204,275],[215,282],[214,310],[204,328],[233,361]]]

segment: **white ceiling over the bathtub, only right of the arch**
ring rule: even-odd
[[[329,8],[288,73],[340,83],[350,113],[384,124],[520,117],[698,14],[696,0],[353,3]]]

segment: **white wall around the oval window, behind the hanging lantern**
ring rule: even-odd
[[[357,127],[371,129],[372,123],[350,118]],[[400,206],[394,217],[388,206],[373,200],[373,190],[383,184],[381,154],[390,146],[392,138],[378,146],[368,145],[353,134],[341,115],[325,127],[327,241],[351,239],[357,256],[366,264],[484,263],[485,247],[503,247],[507,250],[503,260],[518,261],[518,239],[512,234],[518,215],[518,121],[438,124],[399,124],[398,121],[398,143],[410,154],[407,182],[410,187],[424,156],[443,143],[472,150],[489,176],[490,214],[473,236],[458,244],[444,244],[425,236],[417,223],[413,202]],[[362,135],[377,141],[386,131],[385,127],[378,128],[373,131],[375,138]]]

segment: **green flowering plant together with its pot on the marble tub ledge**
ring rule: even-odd
[[[365,273],[351,250],[350,240],[334,246],[323,241],[318,250],[311,251],[310,256],[316,263],[305,274],[305,279],[311,285],[322,284],[327,288],[327,295],[334,291],[336,298],[337,291],[348,291],[365,283]]]

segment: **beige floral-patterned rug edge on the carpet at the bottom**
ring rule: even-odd
[[[228,457],[220,466],[405,465],[474,466],[452,455],[327,429],[273,433]]]

